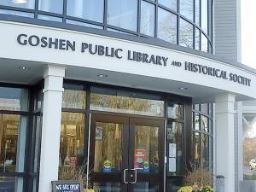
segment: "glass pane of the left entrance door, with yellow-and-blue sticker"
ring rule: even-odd
[[[96,122],[94,172],[121,170],[122,130],[122,124]]]

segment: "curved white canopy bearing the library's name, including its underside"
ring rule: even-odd
[[[7,21],[0,30],[1,82],[33,84],[50,64],[66,67],[66,79],[174,93],[194,102],[214,102],[225,93],[237,101],[256,98],[253,70],[200,55]]]

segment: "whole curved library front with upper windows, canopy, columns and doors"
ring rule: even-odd
[[[234,103],[256,72],[221,2],[1,1],[0,189],[85,167],[96,192],[176,192],[203,167],[235,191]]]

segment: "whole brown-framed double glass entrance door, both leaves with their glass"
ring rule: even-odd
[[[96,192],[162,192],[164,121],[92,116],[90,181]]]

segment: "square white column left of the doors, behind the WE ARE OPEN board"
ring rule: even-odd
[[[64,67],[48,66],[44,73],[39,192],[51,192],[51,181],[58,179],[64,76]]]

